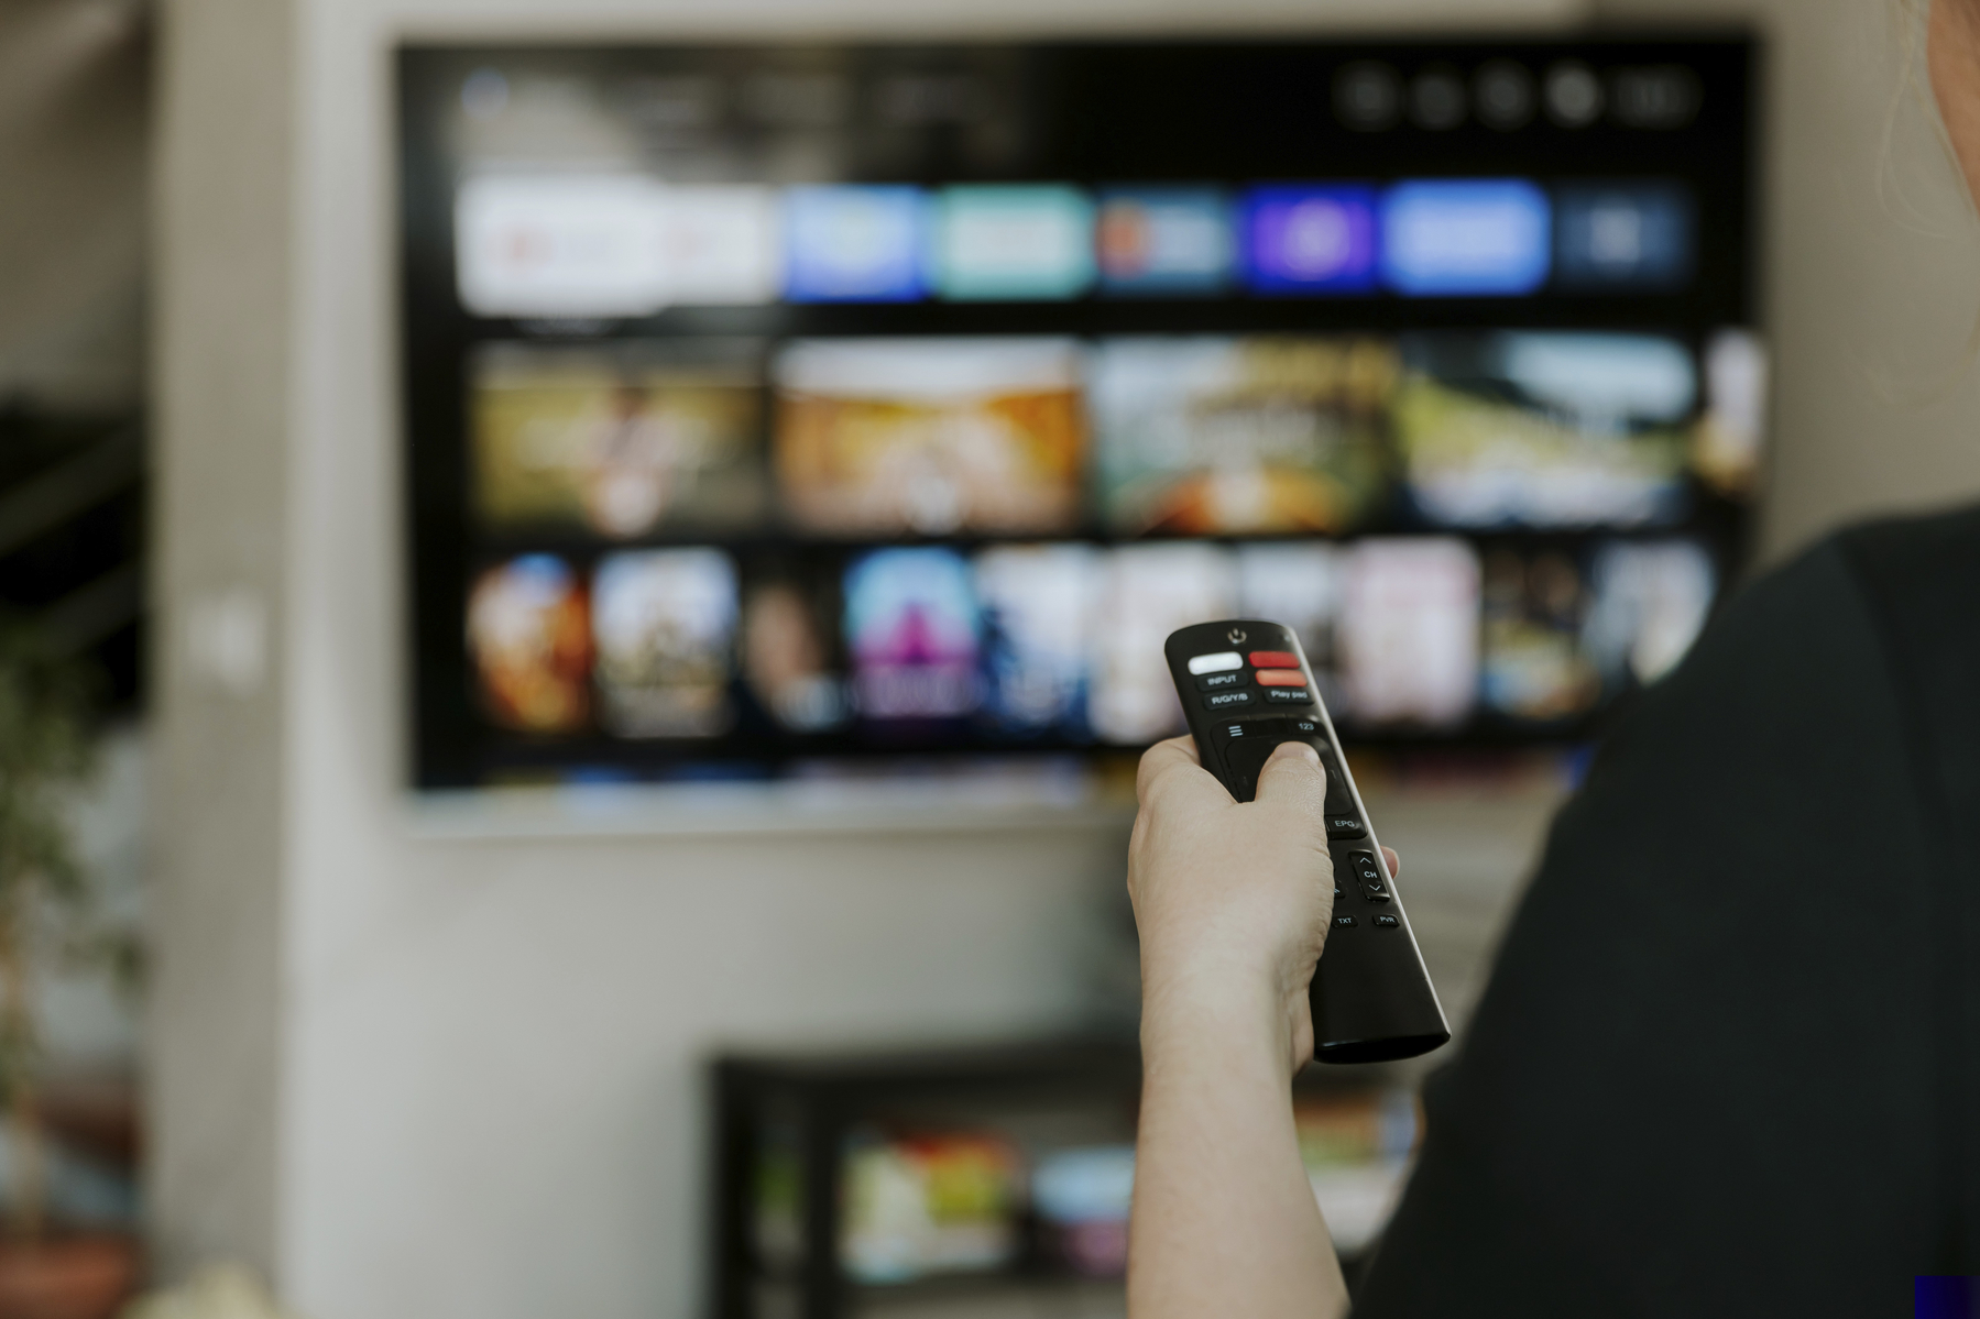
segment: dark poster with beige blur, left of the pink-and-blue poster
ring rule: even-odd
[[[742,594],[742,679],[778,725],[826,733],[845,723],[840,586],[814,572],[770,568]]]

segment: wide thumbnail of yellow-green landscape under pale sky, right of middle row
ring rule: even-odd
[[[1655,335],[1402,339],[1396,442],[1447,527],[1635,527],[1685,511],[1691,355]]]

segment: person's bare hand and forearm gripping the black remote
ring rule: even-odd
[[[1253,768],[1255,798],[1238,802],[1194,739],[1140,759],[1133,1315],[1228,1313],[1234,1289],[1247,1315],[1348,1309],[1291,1101],[1315,1052],[1307,982],[1335,903],[1327,778],[1295,739]]]

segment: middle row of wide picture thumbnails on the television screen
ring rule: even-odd
[[[1764,404],[1744,331],[505,343],[473,511],[523,543],[1671,525],[1750,489]]]

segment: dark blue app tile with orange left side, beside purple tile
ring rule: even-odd
[[[1125,295],[1222,293],[1236,255],[1220,188],[1109,188],[1101,194],[1101,289]]]

